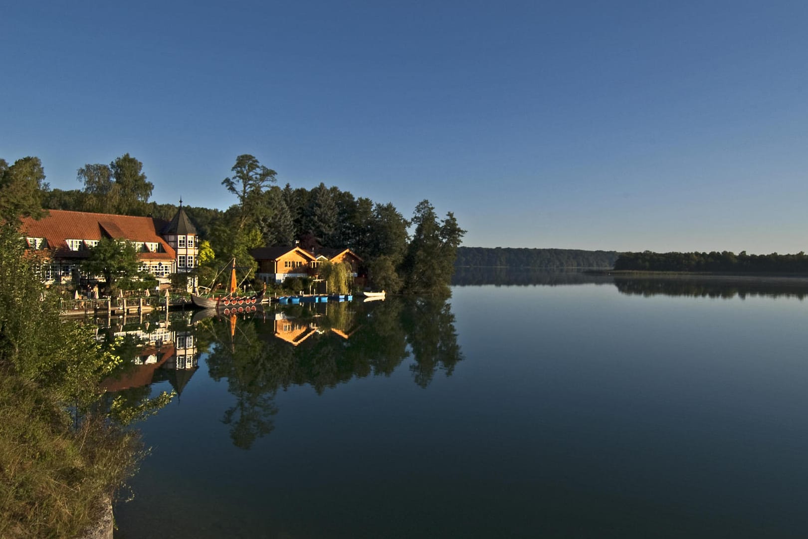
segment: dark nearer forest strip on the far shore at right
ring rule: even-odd
[[[806,273],[808,255],[738,255],[730,251],[709,253],[623,253],[615,270],[638,272],[732,272],[732,273]]]

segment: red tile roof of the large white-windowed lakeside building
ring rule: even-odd
[[[140,253],[141,259],[173,260],[175,251],[160,237],[159,231],[166,225],[162,219],[132,217],[108,213],[70,212],[63,209],[49,210],[49,215],[39,221],[23,218],[23,229],[30,238],[45,238],[48,249],[57,257],[86,258],[87,251],[70,251],[68,239],[100,240],[101,238],[127,239],[131,242],[158,243],[160,253]]]

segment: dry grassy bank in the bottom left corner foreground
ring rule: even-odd
[[[0,373],[0,537],[77,537],[138,455],[136,432],[93,416],[76,426],[47,391]]]

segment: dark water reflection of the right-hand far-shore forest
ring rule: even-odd
[[[615,276],[614,284],[622,294],[629,296],[689,296],[730,299],[749,296],[808,297],[808,282],[787,277],[755,279],[750,277],[622,277]]]

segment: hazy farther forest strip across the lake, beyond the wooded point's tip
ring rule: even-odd
[[[515,247],[458,247],[456,267],[614,267],[617,251],[528,249]]]

